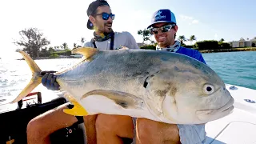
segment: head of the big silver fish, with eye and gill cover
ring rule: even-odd
[[[200,124],[225,117],[234,98],[222,78],[197,60],[178,61],[146,78],[146,103],[166,121]]]

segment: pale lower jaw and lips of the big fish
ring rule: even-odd
[[[218,109],[210,109],[210,110],[197,110],[196,114],[198,114],[198,118],[201,119],[203,115],[223,115],[230,113],[231,110],[234,109],[234,98],[230,98],[226,104]],[[204,119],[204,118],[203,118]]]

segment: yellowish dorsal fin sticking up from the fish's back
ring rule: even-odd
[[[82,54],[85,59],[90,58],[94,54],[98,53],[98,49],[95,49],[93,47],[79,47],[74,50],[72,50],[72,54]]]

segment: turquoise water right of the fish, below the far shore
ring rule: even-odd
[[[256,90],[256,51],[202,54],[225,83]]]

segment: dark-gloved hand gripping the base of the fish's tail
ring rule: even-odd
[[[42,77],[42,85],[46,86],[49,90],[59,90],[58,82],[56,82],[56,76],[54,75],[56,71],[42,71],[40,74]]]

